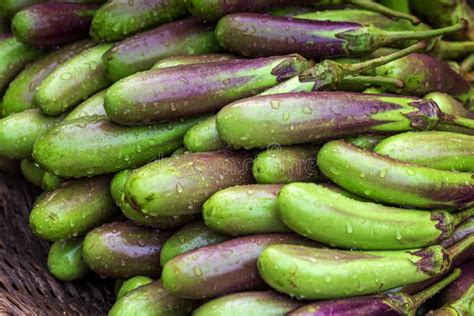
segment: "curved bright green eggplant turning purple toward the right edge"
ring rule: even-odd
[[[474,205],[472,173],[405,163],[345,141],[326,143],[317,161],[331,181],[378,202],[447,210]]]

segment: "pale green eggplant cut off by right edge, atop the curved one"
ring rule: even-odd
[[[474,172],[474,136],[450,132],[408,132],[382,140],[374,152],[434,169]]]

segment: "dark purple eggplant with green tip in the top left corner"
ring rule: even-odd
[[[28,46],[54,48],[88,37],[99,4],[41,3],[25,8],[12,19],[16,38]]]

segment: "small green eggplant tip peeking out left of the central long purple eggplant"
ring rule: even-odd
[[[214,115],[191,127],[184,135],[183,143],[194,153],[216,151],[227,147],[227,144],[219,137]]]

